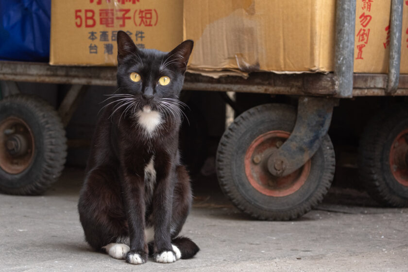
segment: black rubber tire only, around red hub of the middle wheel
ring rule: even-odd
[[[335,156],[326,135],[311,158],[305,184],[284,197],[267,196],[251,186],[245,174],[244,156],[250,144],[263,133],[291,132],[296,120],[295,108],[285,104],[264,104],[238,116],[221,137],[217,150],[217,175],[224,194],[241,211],[260,220],[299,218],[322,202],[334,176]]]

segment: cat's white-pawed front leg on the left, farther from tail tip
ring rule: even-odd
[[[125,174],[123,183],[124,205],[129,228],[130,250],[125,260],[131,264],[147,261],[148,247],[144,239],[144,184],[137,175]]]

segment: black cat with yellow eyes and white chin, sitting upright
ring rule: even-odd
[[[118,91],[108,98],[93,137],[78,203],[86,241],[114,258],[171,263],[199,248],[177,237],[191,207],[178,136],[193,41],[171,52],[138,49],[118,32]]]

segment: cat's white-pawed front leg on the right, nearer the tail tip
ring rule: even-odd
[[[171,245],[170,221],[172,195],[174,189],[174,171],[167,167],[158,167],[157,185],[153,194],[153,221],[154,221],[154,247],[153,259],[160,263],[172,263],[178,258]],[[165,171],[168,169],[168,171]],[[177,251],[178,249],[176,249]]]

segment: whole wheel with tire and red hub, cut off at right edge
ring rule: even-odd
[[[373,117],[359,143],[359,175],[380,204],[408,206],[408,106],[397,104]]]

